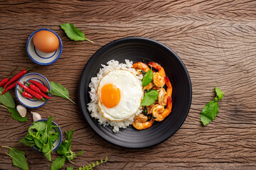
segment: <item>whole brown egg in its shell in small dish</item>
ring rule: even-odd
[[[54,52],[59,44],[58,37],[49,30],[40,30],[33,35],[33,45],[41,52]]]

